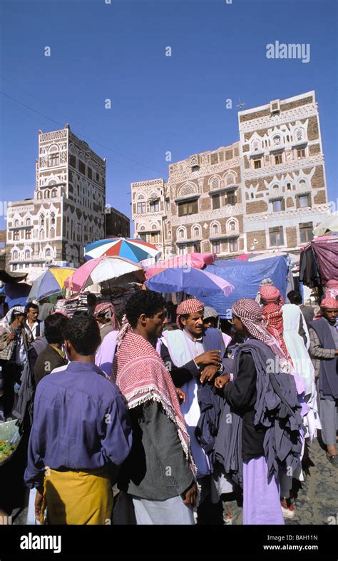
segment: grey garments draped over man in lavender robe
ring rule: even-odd
[[[268,477],[278,477],[280,468],[292,468],[292,472],[295,472],[302,452],[301,407],[295,378],[279,371],[275,354],[257,339],[250,339],[238,348],[234,359],[234,377],[238,372],[240,355],[245,352],[251,353],[257,370],[254,423],[266,429],[263,448]],[[267,365],[271,365],[271,368],[267,368]],[[230,423],[227,422],[229,413]],[[226,472],[231,472],[232,479],[239,485],[242,485],[241,442],[242,418],[225,406],[215,443],[215,457]]]

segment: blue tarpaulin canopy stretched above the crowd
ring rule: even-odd
[[[240,298],[255,300],[257,290],[264,278],[271,278],[279,288],[283,298],[287,291],[287,273],[289,271],[286,256],[262,259],[261,261],[225,261],[217,259],[205,269],[214,275],[224,278],[235,286],[229,296],[218,293],[203,298],[205,305],[217,310],[223,319],[231,318],[232,304]]]

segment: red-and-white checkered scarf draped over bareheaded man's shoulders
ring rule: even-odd
[[[189,435],[168,369],[153,345],[141,335],[133,333],[128,323],[122,331],[123,337],[120,338],[113,360],[113,376],[126,398],[128,409],[138,407],[148,400],[158,401],[168,418],[175,423],[185,457],[195,473]]]

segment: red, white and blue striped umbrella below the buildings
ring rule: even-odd
[[[140,263],[143,259],[157,257],[159,253],[158,248],[143,240],[108,238],[87,243],[85,259],[88,261],[101,256],[118,256]]]

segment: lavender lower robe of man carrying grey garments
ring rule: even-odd
[[[267,479],[264,456],[243,462],[243,525],[284,525],[275,475]]]

